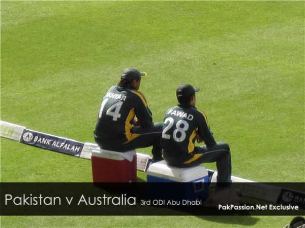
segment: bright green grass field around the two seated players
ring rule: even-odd
[[[149,75],[140,91],[155,122],[176,104],[176,87],[191,83],[215,138],[231,146],[234,176],[304,182],[304,9],[303,1],[1,1],[1,120],[94,142],[104,93],[137,67]],[[1,139],[1,182],[91,181],[89,160]],[[292,218],[2,216],[1,227],[282,227]]]

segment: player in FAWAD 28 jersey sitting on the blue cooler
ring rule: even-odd
[[[190,84],[177,88],[179,104],[169,108],[164,117],[162,155],[168,165],[181,168],[216,162],[217,185],[226,187],[231,182],[230,147],[215,141],[205,113],[195,107],[197,91]],[[196,140],[205,145],[195,146]]]

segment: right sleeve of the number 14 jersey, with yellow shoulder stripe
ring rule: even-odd
[[[146,128],[150,127],[153,124],[152,113],[147,106],[146,99],[144,95],[139,91],[132,91],[138,96],[137,105],[136,105],[136,116],[140,122],[141,127]]]

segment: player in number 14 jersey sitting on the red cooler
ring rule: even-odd
[[[94,130],[100,148],[128,151],[153,145],[154,159],[161,160],[162,123],[154,123],[144,95],[138,91],[146,73],[127,68],[120,83],[112,86],[101,103]]]

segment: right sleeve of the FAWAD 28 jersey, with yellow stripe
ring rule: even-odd
[[[216,144],[216,141],[214,139],[214,136],[208,126],[207,117],[203,111],[199,111],[199,129],[198,134],[199,137],[203,139],[204,143],[207,146],[211,146]]]

